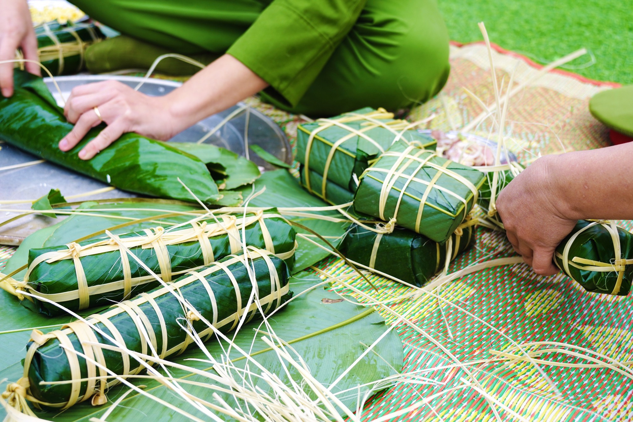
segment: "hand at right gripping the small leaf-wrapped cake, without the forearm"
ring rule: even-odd
[[[559,195],[551,166],[556,156],[537,159],[499,193],[497,211],[508,240],[523,261],[537,274],[553,275],[558,268],[552,259],[558,244],[577,220]]]

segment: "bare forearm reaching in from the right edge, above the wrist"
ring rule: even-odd
[[[633,143],[550,156],[546,168],[563,218],[633,220]]]

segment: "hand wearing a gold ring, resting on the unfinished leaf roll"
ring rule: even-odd
[[[60,140],[59,147],[61,151],[72,149],[102,120],[108,127],[79,152],[79,158],[91,159],[127,132],[168,140],[185,127],[175,127],[167,104],[166,97],[149,97],[121,82],[80,85],[73,88],[64,107],[64,115],[75,127]]]

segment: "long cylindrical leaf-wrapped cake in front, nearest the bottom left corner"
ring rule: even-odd
[[[131,301],[115,304],[86,321],[74,321],[46,334],[34,330],[23,361],[23,378],[16,383],[25,390],[9,391],[8,395],[20,395],[8,397],[9,401],[28,399],[37,407],[61,409],[91,398],[92,404],[104,404],[106,389],[118,383],[116,379],[108,382],[106,377],[113,377],[104,368],[125,376],[146,366],[128,353],[93,344],[115,345],[145,355],[155,353],[163,359],[180,354],[195,344],[193,332],[207,341],[215,337],[216,330],[234,330],[244,313],[246,321],[260,318],[262,312],[272,313],[292,297],[288,280],[289,271],[282,259],[252,248],[248,260],[244,256],[224,258]],[[261,311],[256,301],[249,300],[251,294]],[[41,384],[67,380],[74,382]]]

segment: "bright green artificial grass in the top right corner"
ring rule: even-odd
[[[591,79],[633,84],[631,0],[437,1],[451,40],[482,40],[477,22],[484,22],[491,42],[537,63],[585,47],[596,63],[587,66],[591,56],[585,55],[563,69]]]

